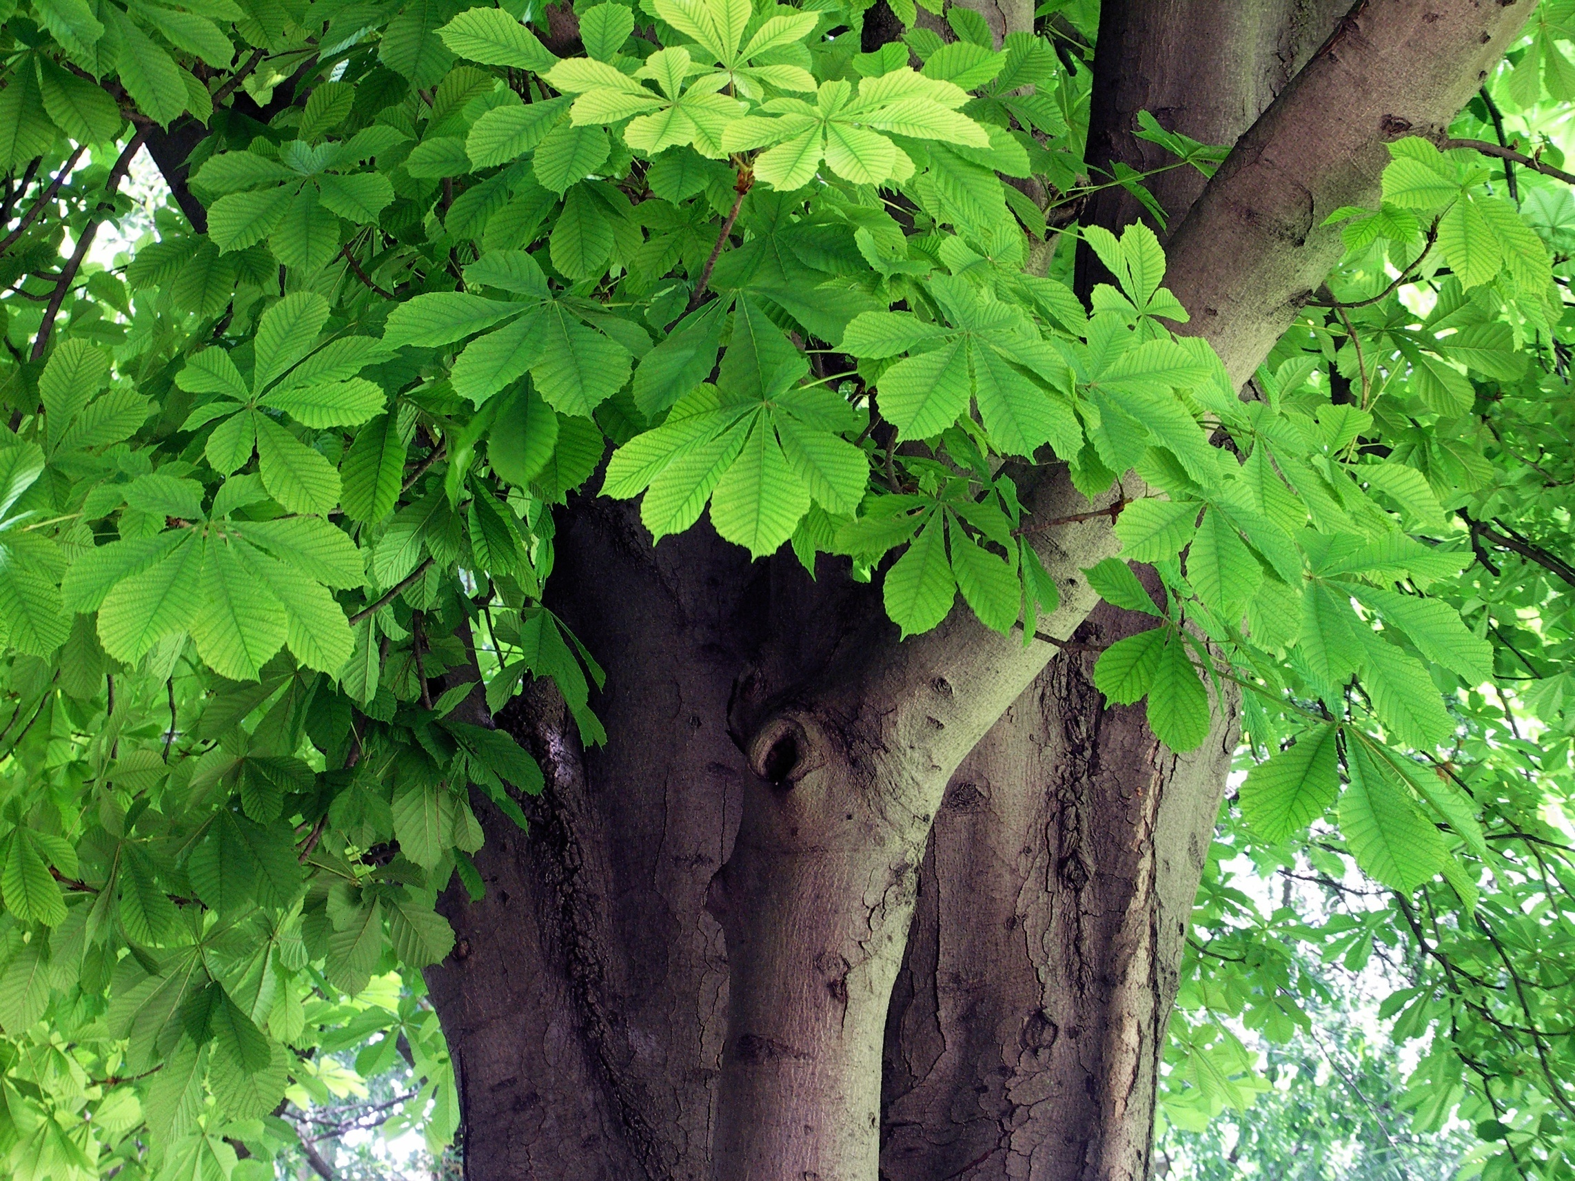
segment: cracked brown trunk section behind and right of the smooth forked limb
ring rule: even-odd
[[[1077,639],[1153,624],[1101,606]],[[1233,701],[1175,756],[1054,661],[953,776],[887,1027],[882,1175],[1147,1175],[1192,896],[1236,740]]]

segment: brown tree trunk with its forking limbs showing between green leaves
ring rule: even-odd
[[[1102,30],[1099,54],[1148,61],[1109,39],[1189,8],[1109,0],[1128,31]],[[1528,9],[1358,5],[1247,131],[1172,227],[1167,276],[1233,375],[1332,261],[1288,222],[1372,200],[1394,120],[1447,120]],[[1230,27],[1238,41],[1206,20],[1172,30],[1142,66],[1164,94],[1189,52],[1258,55],[1186,61],[1188,118],[1224,129],[1178,121],[1199,139],[1240,134],[1263,77],[1290,69],[1263,60],[1284,38]],[[1118,128],[1109,107],[1128,99],[1099,102],[1096,124]],[[1309,148],[1298,197],[1274,162],[1314,126],[1336,146]],[[1087,507],[1055,471],[1022,488],[1043,516]],[[1052,661],[962,609],[898,644],[877,590],[833,562],[817,581],[784,556],[751,565],[706,528],[652,548],[630,505],[591,498],[558,520],[548,594],[606,666],[610,739],[583,751],[539,690],[499,718],[547,787],[528,833],[484,816],[487,896],[444,898],[457,945],[428,973],[468,1175],[1143,1178],[1235,702],[1178,759],[1139,710],[1101,709],[1087,655]],[[1101,646],[1147,625],[1088,614],[1079,570],[1114,551],[1109,521],[1035,542],[1062,589],[1051,636]]]

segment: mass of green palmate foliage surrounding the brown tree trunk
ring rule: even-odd
[[[313,1142],[384,1118],[444,1151],[435,899],[480,890],[472,794],[523,825],[542,784],[491,715],[545,677],[605,740],[540,602],[554,504],[709,513],[880,579],[904,635],[961,594],[1027,642],[1058,526],[1002,460],[1054,457],[1121,482],[1164,584],[1088,572],[1154,617],[1099,688],[1177,750],[1227,683],[1246,710],[1167,1156],[1206,1172],[1235,1127],[1276,1175],[1469,1145],[1569,1176],[1572,8],[1466,145],[1397,142],[1336,214],[1347,258],[1243,402],[1172,335],[1150,230],[1068,228],[1101,184],[1151,203],[1080,164],[1091,5],[995,50],[898,3],[876,54],[841,0],[608,0],[575,44],[517,5],[0,6],[6,1167],[332,1172]],[[146,231],[145,145],[175,183]],[[1309,1118],[1295,1161],[1262,1132]]]

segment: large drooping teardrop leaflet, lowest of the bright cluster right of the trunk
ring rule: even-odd
[[[1366,872],[1410,893],[1443,866],[1443,838],[1362,742],[1351,742],[1347,756],[1351,783],[1340,797],[1340,833]]]

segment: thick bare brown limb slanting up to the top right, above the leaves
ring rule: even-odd
[[[1358,3],[1172,235],[1166,282],[1192,313],[1178,331],[1246,381],[1343,252],[1323,220],[1378,198],[1389,140],[1443,137],[1534,6]]]

